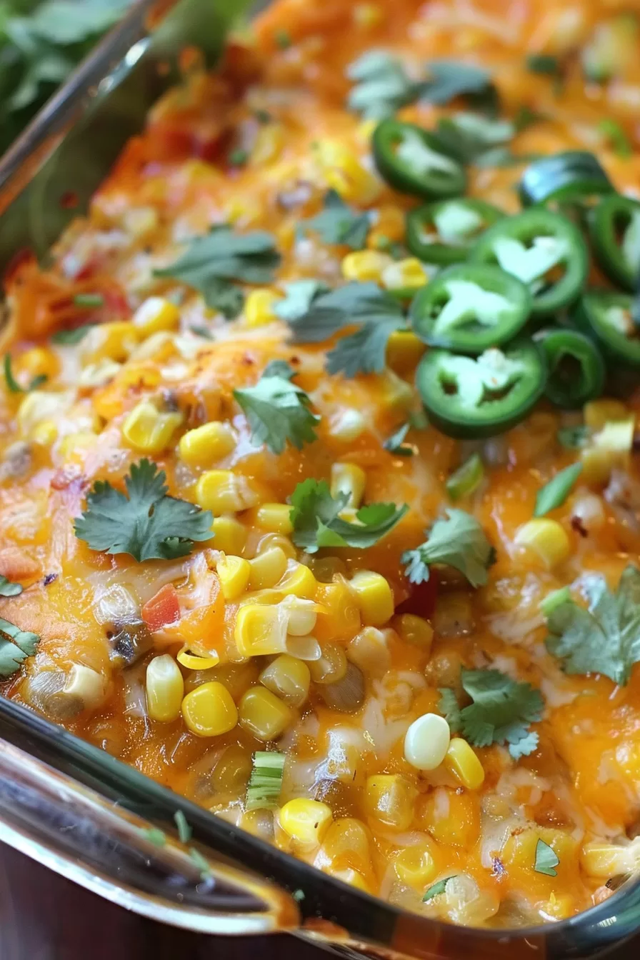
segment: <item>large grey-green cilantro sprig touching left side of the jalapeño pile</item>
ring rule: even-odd
[[[375,283],[347,283],[311,301],[308,310],[290,320],[296,343],[319,343],[345,327],[344,336],[326,358],[329,373],[377,373],[385,369],[387,344],[394,330],[405,326],[402,306]]]

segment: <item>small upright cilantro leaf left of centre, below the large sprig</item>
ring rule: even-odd
[[[282,453],[287,442],[300,450],[318,439],[314,428],[320,417],[311,413],[308,394],[291,382],[294,375],[285,361],[272,361],[254,387],[233,391],[249,421],[252,443],[266,444],[272,453]]]

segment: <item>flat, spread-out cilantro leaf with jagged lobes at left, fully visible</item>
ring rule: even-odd
[[[150,460],[131,464],[124,493],[98,480],[76,519],[75,533],[92,550],[128,553],[138,563],[186,557],[194,540],[210,540],[213,516],[193,503],[167,496],[165,472]]]

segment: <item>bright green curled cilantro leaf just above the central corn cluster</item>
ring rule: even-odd
[[[346,493],[334,499],[325,480],[309,478],[298,483],[291,496],[296,546],[307,553],[316,553],[323,546],[366,549],[388,534],[409,510],[406,504],[398,508],[394,503],[370,503],[356,512],[359,522],[351,523],[340,516],[347,502]]]

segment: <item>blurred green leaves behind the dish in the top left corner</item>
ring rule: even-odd
[[[0,153],[131,0],[0,3]]]

